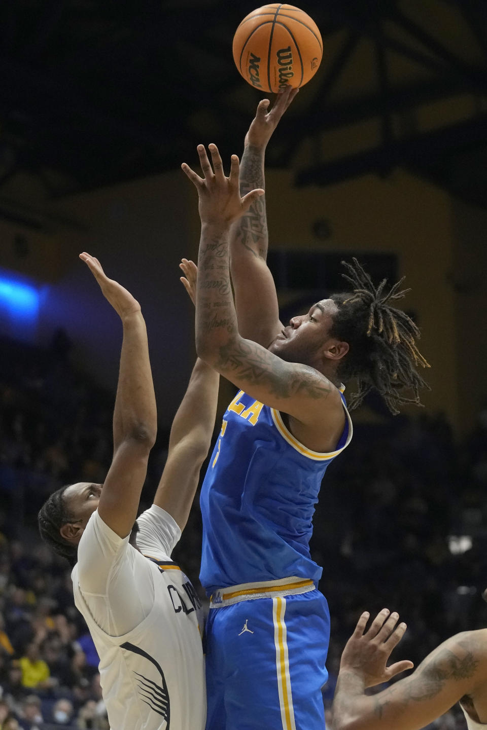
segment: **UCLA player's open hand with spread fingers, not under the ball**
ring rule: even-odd
[[[198,210],[202,223],[229,228],[234,220],[237,220],[248,211],[258,196],[264,195],[264,191],[258,188],[241,198],[239,192],[239,158],[237,155],[231,155],[230,175],[225,177],[221,156],[216,145],[208,145],[208,148],[212,156],[213,167],[208,160],[204,146],[198,145],[199,161],[204,178],[199,177],[185,163],[181,167],[198,191]]]

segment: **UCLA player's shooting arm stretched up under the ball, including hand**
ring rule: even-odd
[[[277,95],[270,111],[269,99],[262,99],[258,104],[256,118],[245,136],[240,164],[242,197],[256,188],[264,188],[266,146],[298,91],[291,86],[285,88]],[[283,329],[274,279],[266,264],[268,242],[266,199],[262,195],[231,228],[230,265],[239,332],[264,347]]]

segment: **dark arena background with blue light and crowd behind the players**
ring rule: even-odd
[[[223,160],[242,153],[262,94],[239,76],[231,42],[254,7],[0,6],[4,730],[108,728],[68,566],[36,524],[50,492],[102,482],[112,456],[121,328],[77,255],[96,255],[147,321],[159,420],[148,504],[195,357],[177,264],[197,255],[199,218],[180,164],[197,164],[200,142],[216,142]],[[366,400],[323,483],[312,555],[331,611],[329,708],[362,610],[399,611],[408,629],[394,656],[415,664],[451,634],[487,626],[487,4],[300,7],[321,30],[323,61],[266,158],[283,317],[340,285],[340,261],[357,255],[375,279],[406,276],[407,312],[432,365],[423,408],[393,417]],[[222,382],[217,424],[232,393]],[[177,547],[195,583],[200,542],[195,502]],[[37,658],[45,665],[32,684]],[[465,724],[457,707],[428,727]]]

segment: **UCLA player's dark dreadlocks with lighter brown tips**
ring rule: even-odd
[[[339,369],[342,380],[356,377],[358,391],[353,393],[350,408],[356,408],[376,388],[396,415],[404,403],[421,405],[419,388],[428,388],[415,367],[429,367],[415,345],[420,331],[413,320],[391,306],[410,289],[399,291],[404,277],[386,292],[387,280],[375,287],[356,258],[353,264],[342,261],[342,274],[353,287],[350,293],[331,296],[338,306],[330,334],[348,342],[350,350]],[[404,395],[412,391],[413,397]]]

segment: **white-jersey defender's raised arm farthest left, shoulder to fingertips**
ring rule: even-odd
[[[123,325],[113,412],[113,459],[101,489],[98,512],[116,534],[126,537],[137,517],[147,459],[157,431],[147,331],[140,305],[131,293],[106,276],[98,259],[88,253],[82,253],[80,258],[88,265]]]

